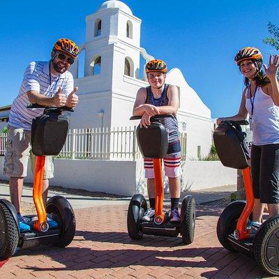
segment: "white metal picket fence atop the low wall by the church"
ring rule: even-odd
[[[0,134],[0,156],[5,155],[6,134]],[[181,133],[181,159],[186,159],[186,133]],[[141,158],[136,126],[118,128],[83,128],[68,131],[57,158],[89,160],[136,160]]]

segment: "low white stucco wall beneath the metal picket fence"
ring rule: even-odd
[[[223,167],[220,162],[186,161],[182,168],[182,189],[202,190],[236,184],[236,169]],[[0,169],[3,169],[3,156],[0,157]],[[8,180],[8,177],[1,171],[0,179]],[[25,181],[33,181],[30,166]],[[143,160],[55,159],[50,185],[126,196],[147,194]]]

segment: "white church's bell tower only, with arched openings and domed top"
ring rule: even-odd
[[[84,77],[71,72],[79,87],[80,103],[72,128],[127,126],[135,101],[137,87],[146,86],[140,74],[140,24],[130,8],[121,1],[105,1],[86,17]],[[78,77],[78,78],[77,78]],[[132,84],[132,87],[130,86]]]

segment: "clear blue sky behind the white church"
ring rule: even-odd
[[[243,46],[262,50],[264,61],[276,51],[262,43],[267,23],[279,25],[279,1],[125,0],[142,19],[141,46],[168,68],[180,68],[188,84],[211,110],[229,116],[239,110],[243,82],[234,55]],[[75,4],[74,4],[75,3]],[[85,17],[103,1],[4,1],[1,3],[1,100],[17,96],[31,61],[50,58],[57,38],[82,45]]]

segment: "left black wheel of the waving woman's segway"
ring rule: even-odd
[[[238,200],[230,203],[221,213],[217,223],[218,240],[224,248],[236,252],[236,249],[229,243],[228,236],[236,229],[237,221],[246,206],[246,201]]]

